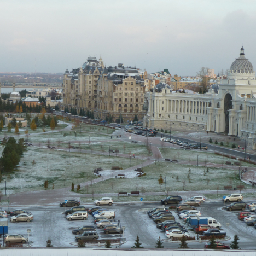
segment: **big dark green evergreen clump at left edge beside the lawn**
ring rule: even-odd
[[[21,156],[26,149],[24,138],[16,139],[10,137],[7,139],[4,137],[5,147],[0,158],[0,167],[4,172],[11,172],[19,164]]]

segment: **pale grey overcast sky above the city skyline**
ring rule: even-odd
[[[256,68],[255,0],[1,0],[0,21],[0,72],[64,72],[101,55],[148,72],[218,73],[242,44]]]

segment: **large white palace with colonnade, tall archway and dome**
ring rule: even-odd
[[[156,129],[175,127],[247,137],[256,149],[256,78],[244,49],[230,66],[226,79],[219,77],[206,94],[173,93],[164,81],[148,92],[144,124]]]

